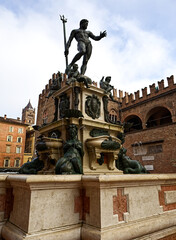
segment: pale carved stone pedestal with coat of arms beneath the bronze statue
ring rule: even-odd
[[[105,96],[104,90],[94,85],[86,88],[83,83],[74,82],[70,86],[63,86],[53,94],[53,97],[58,99],[57,121],[40,129],[40,133],[45,137],[51,131],[57,130],[61,133],[60,138],[66,141],[69,124],[78,127],[78,139],[84,150],[83,174],[122,174],[122,171],[115,167],[115,161],[122,147],[117,135],[123,132],[123,126],[107,122],[108,113],[103,100]],[[76,116],[78,111],[83,117]],[[91,134],[93,131],[96,131],[95,136]],[[108,139],[111,139],[110,144],[118,143],[118,147],[103,148],[102,143]],[[104,161],[100,164],[99,158],[102,155]]]

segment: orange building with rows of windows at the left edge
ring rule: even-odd
[[[0,168],[19,168],[23,164],[26,127],[19,118],[0,117]]]

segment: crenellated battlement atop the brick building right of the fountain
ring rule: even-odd
[[[134,93],[123,93],[123,91],[119,90],[119,97],[117,96],[117,89],[114,89],[113,91],[113,97],[115,100],[118,100],[122,103],[123,107],[128,107],[133,104],[151,99],[153,97],[159,96],[163,93],[167,93],[170,90],[176,89],[176,84],[174,83],[174,76],[171,75],[170,77],[167,77],[167,86],[165,87],[164,80],[158,81],[158,84],[156,86],[155,83],[152,85],[149,85],[149,92],[148,88],[144,87],[141,89],[141,96],[140,96],[140,90],[134,92]]]

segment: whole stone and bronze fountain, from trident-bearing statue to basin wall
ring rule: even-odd
[[[61,20],[65,24],[64,16]],[[87,24],[84,19],[65,44],[66,63],[74,37],[106,36],[86,31]],[[4,240],[176,239],[176,175],[139,174],[145,169],[123,148],[124,124],[109,117],[111,78],[102,78],[100,88],[94,85],[84,75],[83,50],[79,44],[67,76],[58,74],[50,86],[46,97],[55,99],[55,114],[37,127],[37,157],[20,174],[0,176],[0,235]],[[80,74],[74,64],[83,55]]]

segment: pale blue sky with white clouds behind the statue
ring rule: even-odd
[[[65,71],[59,15],[67,39],[83,18],[95,35],[107,31],[92,40],[86,75],[110,75],[115,88],[133,93],[176,75],[175,12],[175,0],[0,0],[0,116],[21,117],[29,99],[37,110],[52,74]],[[69,62],[76,52],[73,41]]]

